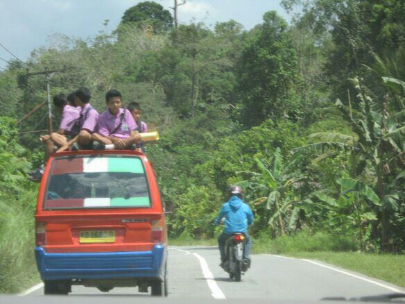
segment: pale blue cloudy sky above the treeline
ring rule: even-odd
[[[234,19],[251,29],[261,23],[264,12],[277,10],[289,19],[279,5],[281,0],[187,0],[178,9],[180,24],[191,20],[214,26],[216,22]],[[49,37],[55,33],[83,39],[100,31],[114,31],[123,13],[139,0],[0,0],[0,44],[21,60],[26,60],[33,49],[48,47]],[[173,0],[155,0],[164,8]],[[180,2],[180,0],[179,0]],[[170,9],[169,9],[170,10]],[[170,10],[173,12],[173,10]],[[105,19],[110,20],[107,28]],[[0,68],[4,60],[14,59],[0,46]]]

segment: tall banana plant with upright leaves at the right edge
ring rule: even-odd
[[[390,96],[395,95],[395,101],[403,100],[405,97],[405,83],[395,78],[381,78],[390,94],[384,96],[383,100],[372,99],[368,96],[370,92],[359,78],[352,79],[354,87],[359,92],[359,110],[354,114],[350,100],[348,106],[340,99],[335,103],[336,108],[352,128],[352,136],[341,133],[316,133],[311,135],[316,140],[313,144],[302,146],[293,151],[302,153],[304,151],[316,151],[324,153],[326,149],[343,150],[351,153],[354,160],[351,177],[356,179],[363,176],[367,164],[370,164],[375,174],[375,183],[368,187],[376,189],[376,196],[373,202],[374,212],[379,214],[381,221],[381,249],[389,242],[390,213],[398,209],[401,196],[398,184],[388,187],[390,180],[400,180],[403,177],[402,170],[405,164],[405,109],[395,112],[395,107],[390,107]],[[391,111],[388,112],[388,110]],[[331,153],[330,155],[333,155]],[[339,181],[338,181],[339,183]],[[360,187],[361,184],[354,181],[340,180],[340,183],[353,187]],[[355,186],[354,186],[355,185]],[[361,189],[352,189],[361,192]],[[363,189],[365,191],[365,189]],[[403,200],[402,200],[403,202]]]

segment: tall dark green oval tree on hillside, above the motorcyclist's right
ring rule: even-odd
[[[295,50],[287,23],[277,12],[266,12],[264,23],[252,30],[238,67],[236,90],[245,126],[256,126],[272,116],[287,117],[296,110],[288,102],[297,82]]]

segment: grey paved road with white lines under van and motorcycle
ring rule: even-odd
[[[171,246],[169,248],[169,296],[171,298],[251,298],[316,301],[405,292],[380,280],[367,278],[320,262],[252,255],[252,267],[242,282],[232,282],[218,267],[218,248]],[[42,296],[37,289],[29,296]],[[73,286],[71,295],[101,295],[96,288]],[[137,288],[112,289],[106,296],[139,294]],[[70,295],[69,295],[70,296]]]

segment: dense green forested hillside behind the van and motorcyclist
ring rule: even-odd
[[[56,35],[27,67],[66,65],[53,76],[52,94],[85,85],[100,112],[112,87],[125,104],[141,103],[144,121],[161,134],[146,153],[173,211],[173,237],[216,236],[221,228],[212,220],[229,185],[241,183],[255,237],[332,235],[342,241],[330,250],[403,253],[404,3],[283,3],[299,11],[291,24],[266,12],[251,31],[234,20],[167,32],[123,22],[89,41]],[[42,76],[27,78],[12,62],[0,73],[1,112],[21,118],[45,98],[44,89]],[[44,114],[19,130],[46,128]],[[11,160],[27,152],[16,133],[7,136],[1,147],[11,141],[13,148],[1,148],[0,197],[11,208],[9,198],[24,202],[19,189],[33,186],[24,177],[28,164]],[[21,135],[19,144],[32,151],[33,164],[41,162],[36,135]]]

